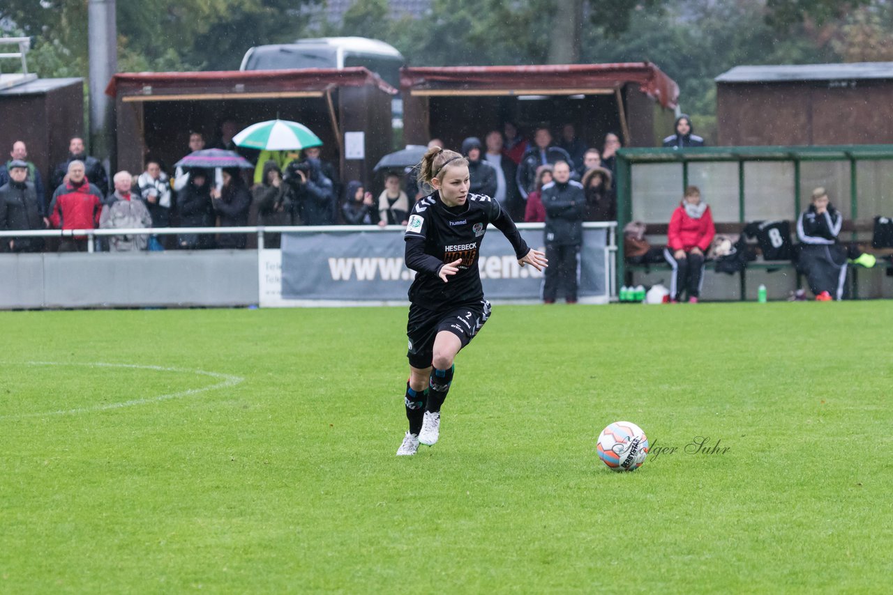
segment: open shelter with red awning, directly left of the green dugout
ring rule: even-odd
[[[437,137],[455,148],[506,120],[528,138],[540,123],[555,133],[570,123],[589,146],[600,148],[608,132],[624,146],[651,146],[672,128],[679,97],[651,62],[413,67],[401,70],[400,87],[405,142]]]

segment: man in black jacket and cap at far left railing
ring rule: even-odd
[[[46,229],[43,201],[28,181],[28,163],[10,161],[8,170],[10,180],[0,186],[0,229]],[[39,252],[43,248],[42,237],[4,237],[0,243],[2,252]]]

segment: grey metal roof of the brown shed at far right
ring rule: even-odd
[[[893,79],[893,62],[736,66],[714,80],[717,83],[773,83],[839,79]]]

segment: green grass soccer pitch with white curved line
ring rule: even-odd
[[[396,458],[405,317],[0,313],[0,591],[889,588],[889,302],[497,306]]]

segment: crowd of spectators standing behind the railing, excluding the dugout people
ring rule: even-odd
[[[217,148],[238,150],[232,138],[238,127],[221,125]],[[487,194],[516,221],[547,220],[542,189],[552,183],[556,164],[566,163],[570,179],[583,185],[585,220],[613,220],[613,154],[620,147],[614,134],[601,147],[586,145],[572,124],[558,130],[540,126],[529,141],[513,122],[462,144],[469,161],[471,192]],[[483,142],[481,142],[483,138]],[[432,145],[442,145],[434,139]],[[204,135],[189,135],[185,154],[205,148]],[[29,161],[28,147],[16,141],[10,159],[0,165],[0,229],[139,229],[148,227],[240,227],[292,225],[404,225],[426,189],[412,169],[386,171],[377,196],[368,183],[342,184],[338,168],[321,159],[320,147],[304,151],[263,151],[246,155],[255,161],[253,175],[240,169],[177,167],[168,172],[154,158],[142,172],[111,176],[103,162],[87,153],[84,140],[71,138],[65,161],[47,178]],[[48,180],[48,183],[45,182]],[[276,247],[279,238],[265,237]],[[96,249],[112,252],[170,249],[256,247],[246,234],[103,236]],[[4,252],[84,252],[87,236],[4,238]]]

